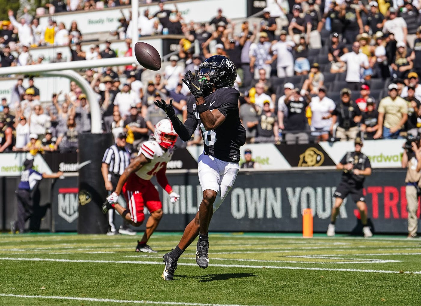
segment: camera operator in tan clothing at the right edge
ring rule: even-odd
[[[418,184],[421,178],[420,136],[408,135],[403,145],[402,168],[408,168],[405,178],[405,194],[408,210],[408,238],[415,238],[418,229]]]

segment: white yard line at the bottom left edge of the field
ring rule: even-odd
[[[44,295],[25,295],[25,294],[11,294],[0,293],[0,296],[8,296],[13,298],[51,298],[57,300],[73,300],[73,301],[89,301],[89,302],[104,302],[104,303],[134,303],[134,304],[159,304],[159,305],[186,305],[186,306],[229,306],[226,304],[202,304],[202,303],[184,303],[184,302],[158,302],[158,301],[144,301],[144,300],[114,300],[109,298],[79,298],[77,296],[44,296]]]

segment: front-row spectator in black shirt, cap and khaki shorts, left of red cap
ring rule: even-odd
[[[340,140],[354,140],[357,138],[359,132],[358,123],[361,121],[361,110],[356,103],[351,101],[351,90],[349,88],[342,88],[341,101],[339,104],[336,104],[332,117],[332,128],[338,122],[336,138]]]

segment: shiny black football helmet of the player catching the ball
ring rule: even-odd
[[[209,80],[207,76],[210,77]],[[236,78],[237,68],[223,55],[210,56],[199,66],[199,82],[203,83],[205,88],[232,86]]]

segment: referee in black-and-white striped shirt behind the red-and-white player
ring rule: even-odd
[[[125,168],[130,163],[130,153],[126,146],[127,134],[120,133],[115,138],[115,144],[110,146],[104,153],[102,158],[101,172],[105,182],[105,189],[108,194],[111,194],[117,186],[120,175],[123,174]],[[108,210],[108,224],[110,226],[107,235],[112,236],[117,234],[114,225],[114,209]],[[125,235],[136,235],[135,231],[132,231],[128,226],[128,221],[123,219],[123,225],[118,230],[120,234]]]

